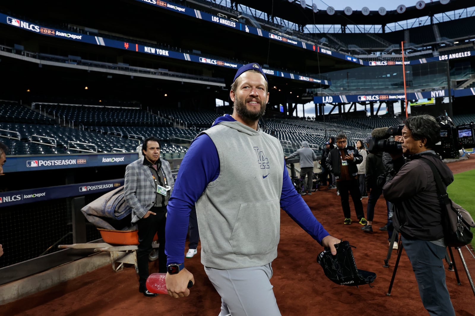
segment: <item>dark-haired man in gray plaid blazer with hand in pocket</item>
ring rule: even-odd
[[[149,276],[148,255],[152,251],[155,233],[158,235],[159,272],[167,272],[165,255],[165,223],[168,199],[173,190],[170,163],[160,158],[159,139],[152,136],[143,141],[139,158],[125,168],[124,197],[132,208],[132,223],[137,223],[139,245],[137,267],[139,270],[139,291],[145,296],[157,296],[149,292],[145,282]]]

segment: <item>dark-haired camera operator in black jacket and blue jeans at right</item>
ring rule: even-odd
[[[446,254],[443,214],[437,201],[434,175],[421,158],[430,159],[447,186],[454,177],[432,149],[440,136],[434,117],[409,117],[402,129],[401,154],[391,154],[397,174],[383,187],[384,197],[394,204],[393,225],[401,233],[402,245],[416,275],[419,294],[430,315],[455,316],[446,286],[442,259]]]

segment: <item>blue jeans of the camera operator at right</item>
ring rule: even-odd
[[[401,240],[416,275],[422,304],[429,315],[455,316],[442,263],[447,248],[425,240],[406,237],[401,237]]]

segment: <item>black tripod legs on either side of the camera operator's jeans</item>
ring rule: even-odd
[[[392,234],[391,236],[391,242],[390,242],[390,247],[389,247],[389,250],[388,250],[388,256],[386,257],[386,259],[384,259],[384,265],[383,267],[385,268],[388,268],[389,265],[388,265],[388,262],[389,262],[389,259],[391,257],[391,252],[392,252],[392,244],[394,243],[394,241],[396,240],[396,236],[399,235],[398,232],[394,231],[394,233]],[[467,246],[466,246],[467,247]],[[398,265],[399,265],[399,259],[401,258],[401,253],[402,253],[402,249],[403,249],[403,245],[402,245],[402,242],[401,242],[401,238],[399,238],[399,241],[398,241],[398,257],[396,258],[396,263],[394,265],[394,271],[392,272],[392,277],[391,277],[391,282],[389,284],[389,289],[388,289],[388,293],[386,293],[387,296],[390,296],[391,295],[391,289],[392,289],[392,285],[394,283],[394,279],[396,278],[396,272],[398,271]],[[474,286],[474,282],[472,280],[472,277],[470,276],[470,272],[468,271],[468,267],[467,267],[467,264],[465,262],[465,259],[464,259],[464,256],[462,254],[462,250],[460,249],[460,247],[454,247],[457,252],[458,252],[458,255],[460,256],[460,260],[462,261],[462,265],[464,266],[464,269],[465,269],[465,273],[467,274],[467,278],[468,278],[468,282],[470,283],[470,286],[472,288],[472,292],[474,293],[475,295],[475,286]],[[455,265],[455,261],[454,261],[454,253],[452,253],[452,247],[447,247],[448,249],[448,253],[450,253],[450,259],[448,257],[448,254],[447,254],[447,251],[446,251],[446,256],[445,256],[445,260],[446,262],[448,263],[448,270],[449,271],[455,271],[455,276],[456,276],[456,280],[457,280],[457,285],[461,285],[460,283],[460,278],[458,277],[458,272],[457,272],[457,267]],[[468,247],[467,247],[468,249]],[[468,249],[470,251],[470,249]],[[472,254],[470,252],[470,254]],[[473,254],[472,254],[473,256]],[[474,257],[475,259],[475,257]],[[450,261],[451,260],[451,261]]]

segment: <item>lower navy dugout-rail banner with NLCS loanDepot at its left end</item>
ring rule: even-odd
[[[9,158],[10,160],[10,158]],[[55,187],[0,192],[0,208],[52,199],[64,199],[86,194],[108,192],[123,186],[123,179],[67,184]]]

